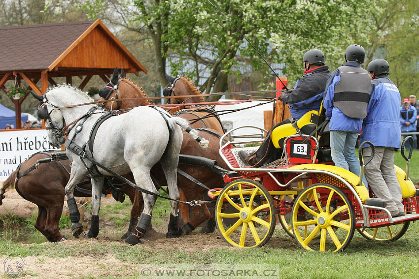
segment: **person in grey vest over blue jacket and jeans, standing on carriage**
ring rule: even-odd
[[[336,166],[359,176],[359,160],[355,145],[362,120],[367,116],[371,93],[368,72],[361,68],[365,50],[360,45],[350,45],[345,50],[342,66],[332,72],[326,83],[323,106],[330,121],[330,148]],[[364,179],[364,185],[367,182]]]

